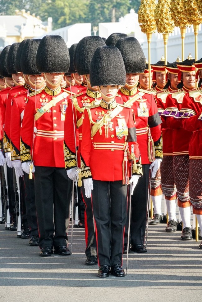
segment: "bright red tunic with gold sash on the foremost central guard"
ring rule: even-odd
[[[100,105],[86,108],[81,142],[82,178],[92,175],[94,180],[123,180],[125,135],[118,138],[116,132],[116,127],[122,123],[128,128],[128,141],[129,144],[134,144],[134,153],[138,160],[140,153],[138,143],[135,142],[135,124],[131,109],[117,104],[115,100],[110,104],[101,100]]]

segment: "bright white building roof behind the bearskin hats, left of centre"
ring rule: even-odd
[[[52,30],[48,34],[61,36],[65,40],[67,47],[70,47],[72,44],[78,43],[82,38],[91,36],[91,23],[76,23]],[[43,38],[44,36],[45,34],[37,38]]]

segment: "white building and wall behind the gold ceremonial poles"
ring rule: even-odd
[[[115,23],[99,23],[99,36],[107,38],[111,33],[126,33],[135,37],[141,44],[145,57],[148,59],[148,43],[146,34],[141,32],[138,22],[138,14],[131,9],[130,13],[119,19]],[[198,59],[202,57],[202,28],[199,26],[198,34]],[[168,44],[168,62],[174,62],[177,56],[181,58],[181,35],[180,29],[175,27],[173,33],[169,34]],[[186,29],[185,35],[185,59],[191,53],[195,58],[195,36],[193,26]],[[164,56],[163,36],[159,33],[152,34],[151,39],[151,63],[158,62]]]

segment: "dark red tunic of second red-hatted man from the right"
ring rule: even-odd
[[[172,136],[172,155],[188,154],[191,132],[185,130],[180,118],[182,100],[186,92],[185,87],[172,91],[166,99],[166,109],[162,113],[166,118],[168,128],[173,130]]]

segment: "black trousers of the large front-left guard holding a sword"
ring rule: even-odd
[[[64,168],[35,166],[34,184],[39,247],[67,246],[71,180]]]

